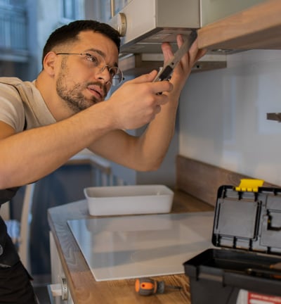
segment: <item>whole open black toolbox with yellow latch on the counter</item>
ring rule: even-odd
[[[191,304],[281,303],[281,189],[221,186],[211,241],[183,264]]]

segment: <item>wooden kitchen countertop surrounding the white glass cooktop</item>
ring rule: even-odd
[[[175,191],[171,213],[211,211],[214,207]],[[183,286],[182,291],[143,297],[134,291],[135,279],[96,281],[67,225],[67,220],[94,218],[89,215],[86,200],[48,209],[48,222],[63,265],[67,285],[75,304],[83,303],[190,303],[189,281],[185,274],[155,277],[165,284]]]

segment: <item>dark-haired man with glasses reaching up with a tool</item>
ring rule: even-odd
[[[174,134],[181,89],[204,51],[195,42],[169,82],[152,82],[152,71],[101,102],[122,81],[119,42],[109,25],[75,21],[48,38],[37,80],[0,78],[0,203],[86,147],[135,170],[157,170]],[[177,42],[183,44],[181,36]],[[169,44],[162,51],[165,61],[173,56]],[[148,123],[141,137],[124,132]],[[29,279],[0,218],[0,302],[37,303]]]

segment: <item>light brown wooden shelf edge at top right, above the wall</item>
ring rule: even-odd
[[[268,0],[198,30],[200,48],[281,49],[281,1]]]

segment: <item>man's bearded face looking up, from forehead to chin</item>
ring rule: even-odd
[[[117,66],[115,43],[103,34],[87,31],[79,34],[79,42],[61,52],[56,79],[58,96],[74,113],[103,101],[112,82],[109,69],[103,67]]]

